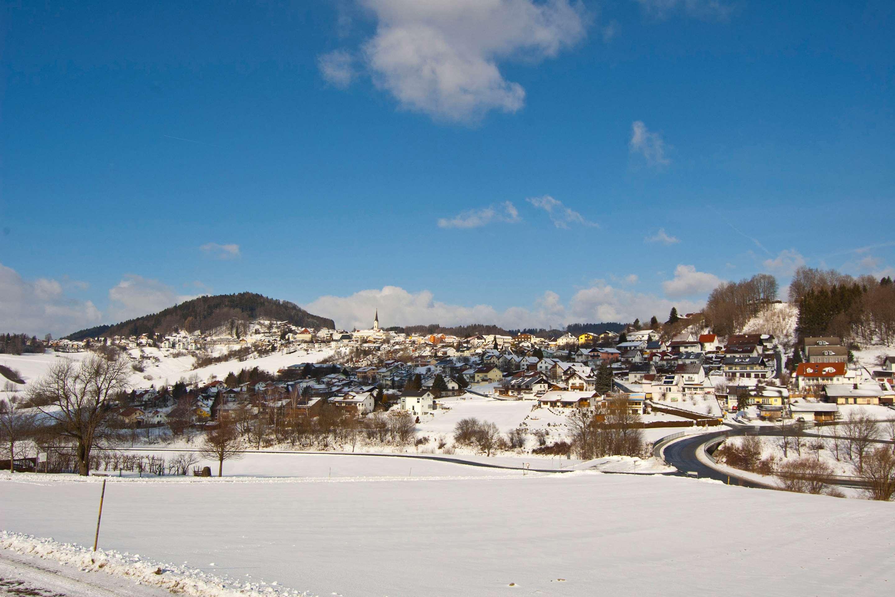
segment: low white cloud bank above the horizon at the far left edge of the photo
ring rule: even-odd
[[[67,296],[56,280],[38,278],[29,282],[2,263],[0,288],[0,329],[6,332],[60,337],[102,320],[93,303]]]

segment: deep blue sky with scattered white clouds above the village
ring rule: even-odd
[[[7,3],[0,328],[633,320],[891,274],[891,2]]]

